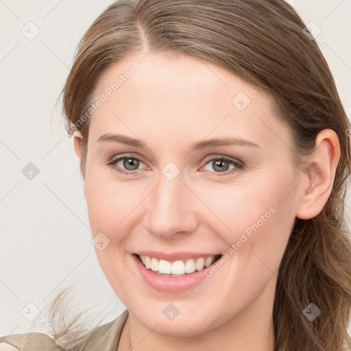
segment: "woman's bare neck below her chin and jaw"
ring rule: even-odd
[[[154,329],[147,328],[129,312],[117,351],[273,351],[274,278],[250,306],[201,335],[165,335],[156,331],[157,326]]]

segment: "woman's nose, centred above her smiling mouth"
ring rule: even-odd
[[[199,200],[183,182],[181,174],[173,180],[160,174],[158,185],[147,197],[144,226],[154,236],[176,239],[197,228]]]

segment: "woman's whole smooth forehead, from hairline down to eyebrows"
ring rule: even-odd
[[[92,102],[101,97],[104,103],[90,117],[95,139],[122,129],[147,138],[162,132],[169,143],[172,136],[178,136],[179,143],[187,130],[197,134],[196,141],[224,133],[256,142],[272,143],[276,138],[278,144],[282,141],[276,136],[282,135],[289,143],[289,128],[267,93],[226,69],[189,56],[149,53],[114,64],[101,76]]]

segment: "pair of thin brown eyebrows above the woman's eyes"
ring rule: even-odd
[[[140,147],[144,149],[149,149],[143,141],[135,138],[130,138],[130,136],[125,136],[121,134],[103,134],[97,140],[97,143],[103,141],[114,141],[116,143],[122,143],[125,145],[130,145],[134,147]],[[215,146],[226,146],[226,145],[241,145],[241,146],[251,146],[251,147],[261,147],[260,145],[253,143],[252,141],[245,140],[243,138],[222,138],[222,139],[208,139],[206,141],[199,141],[191,145],[193,150],[206,149],[208,147]]]

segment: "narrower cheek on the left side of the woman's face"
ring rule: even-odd
[[[92,235],[102,232],[108,243],[103,250],[95,249],[97,260],[112,289],[123,301],[128,300],[124,287],[130,285],[133,275],[123,263],[126,259],[123,241],[132,232],[132,210],[137,209],[140,199],[133,192],[132,183],[117,182],[103,172],[88,171],[85,184]]]

